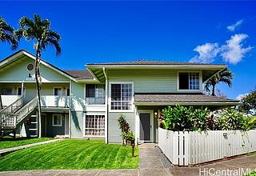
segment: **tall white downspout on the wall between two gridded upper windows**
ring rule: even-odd
[[[103,67],[103,73],[106,78],[105,81],[105,142],[108,143],[108,80],[106,77],[106,69]]]

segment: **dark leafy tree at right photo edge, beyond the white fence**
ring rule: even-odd
[[[239,110],[256,116],[256,90],[252,90],[250,94],[242,98],[242,105],[239,106]]]

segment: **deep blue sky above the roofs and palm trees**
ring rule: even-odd
[[[15,29],[22,16],[40,14],[61,36],[42,58],[62,70],[87,63],[135,61],[226,64],[233,86],[219,84],[228,98],[256,86],[256,2],[0,2],[0,15]],[[34,54],[33,42],[19,49]],[[14,53],[0,43],[0,59]]]

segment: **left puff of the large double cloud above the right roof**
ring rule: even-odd
[[[209,43],[202,46],[197,46],[194,51],[198,52],[198,55],[190,59],[190,62],[210,63],[214,62],[214,58],[218,54],[218,43]]]

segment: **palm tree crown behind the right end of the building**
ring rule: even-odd
[[[231,72],[231,70],[229,69],[225,69],[222,70],[221,72],[219,72],[218,74],[215,74],[213,77],[211,77],[210,79],[208,79],[206,81],[206,85],[205,85],[205,90],[207,92],[211,92],[212,96],[216,96],[215,94],[215,88],[216,85],[219,82],[223,82],[225,84],[227,84],[227,86],[232,86],[232,79],[233,79],[234,75]],[[211,90],[210,90],[211,87]]]

